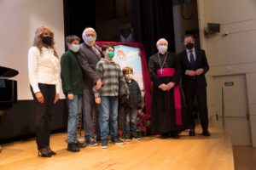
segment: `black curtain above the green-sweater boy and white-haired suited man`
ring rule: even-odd
[[[82,39],[85,27],[96,28],[96,1],[63,0],[65,37],[74,34]]]

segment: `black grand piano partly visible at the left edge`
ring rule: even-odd
[[[17,102],[17,82],[8,78],[15,77],[19,71],[0,66],[0,123],[4,111],[12,108]],[[1,153],[0,145],[0,153]]]

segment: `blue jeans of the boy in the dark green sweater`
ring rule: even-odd
[[[67,142],[77,141],[77,128],[79,123],[79,113],[81,111],[82,95],[73,95],[73,100],[67,99]]]

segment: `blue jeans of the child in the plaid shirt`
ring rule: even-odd
[[[101,129],[101,139],[108,139],[109,126],[112,138],[118,137],[118,106],[117,96],[101,96],[102,102],[99,112],[99,124]]]

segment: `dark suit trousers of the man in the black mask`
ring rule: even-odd
[[[197,100],[201,127],[203,131],[208,130],[208,109],[207,109],[207,88],[198,88],[196,80],[192,80],[188,88],[183,89],[185,94],[186,105],[188,109],[188,117],[190,129],[195,129],[195,99]]]

